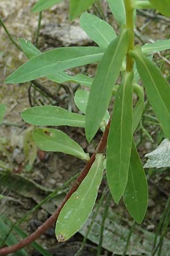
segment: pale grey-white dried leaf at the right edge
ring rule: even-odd
[[[162,143],[152,152],[145,155],[148,160],[144,168],[170,167],[170,142],[164,139]]]

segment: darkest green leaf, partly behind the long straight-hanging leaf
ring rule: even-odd
[[[124,202],[131,217],[139,224],[147,210],[148,187],[145,171],[133,141],[129,165],[128,183],[124,193]]]

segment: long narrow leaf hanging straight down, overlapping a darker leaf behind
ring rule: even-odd
[[[107,180],[118,204],[128,181],[132,141],[133,73],[125,73],[117,90],[107,144]]]

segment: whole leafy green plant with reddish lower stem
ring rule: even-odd
[[[87,2],[83,10],[94,1]],[[99,47],[65,47],[41,53],[30,42],[19,40],[23,52],[30,60],[12,73],[6,82],[21,83],[46,76],[55,82],[78,82],[90,89],[90,93],[81,89],[75,94],[75,103],[85,115],[70,113],[57,106],[40,106],[25,110],[22,113],[24,121],[37,126],[84,127],[88,142],[91,142],[99,129],[103,131],[103,137],[90,158],[78,143],[62,131],[46,128],[33,131],[33,138],[42,150],[71,154],[87,160],[87,164],[57,212],[30,239],[24,240],[22,245],[20,243],[20,247],[14,246],[15,250],[33,241],[48,228],[48,224],[56,220],[58,241],[66,241],[81,228],[94,207],[105,158],[108,185],[114,201],[118,204],[123,197],[130,215],[138,223],[145,217],[147,181],[133,134],[142,117],[143,90],[146,90],[164,135],[170,139],[170,86],[151,60],[153,53],[170,49],[170,42],[160,40],[142,47],[135,46],[135,13],[136,9],[155,8],[170,16],[170,3],[166,0],[161,5],[159,0],[108,0],[108,3],[121,25],[119,35],[107,22],[92,14],[84,13],[80,18],[83,30]],[[69,68],[97,62],[99,66],[94,79],[82,74],[69,76],[65,72]],[[121,83],[117,85],[119,76]],[[138,84],[140,77],[144,88]],[[108,106],[115,93],[113,114],[109,118]],[[133,93],[138,96],[134,108]],[[0,255],[5,255],[1,251],[6,252],[7,249],[0,250]]]

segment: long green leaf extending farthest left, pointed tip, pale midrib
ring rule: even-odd
[[[103,50],[99,47],[63,47],[34,57],[7,77],[7,83],[32,81],[43,76],[100,61]]]

